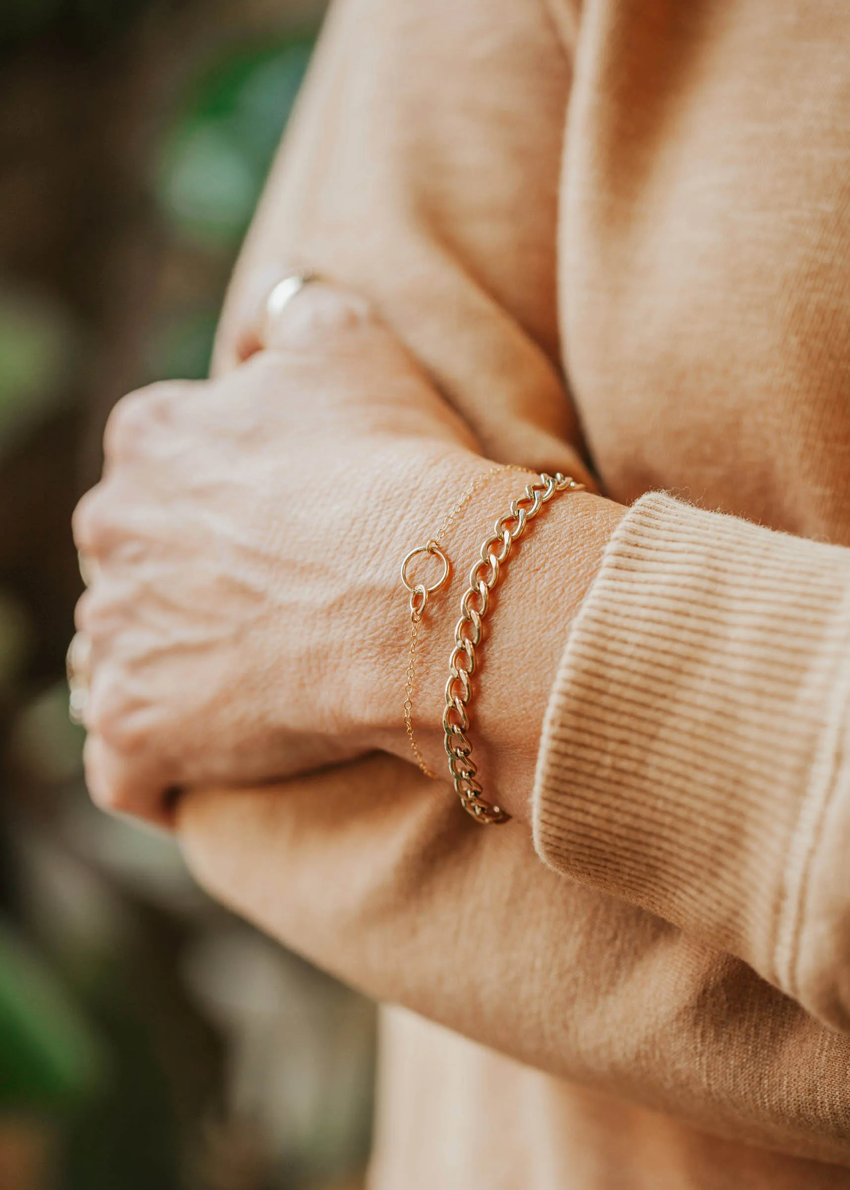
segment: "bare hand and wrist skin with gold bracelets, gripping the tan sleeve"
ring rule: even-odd
[[[280,779],[379,747],[412,759],[398,565],[493,465],[360,299],[311,286],[264,340],[256,351],[245,338],[237,367],[211,382],[119,402],[104,478],[75,514],[96,569],[77,609],[92,639],[89,789],[165,825],[176,789]],[[438,771],[468,560],[523,486],[495,476],[446,543],[458,565],[429,607],[415,694]],[[514,816],[526,815],[570,613],[618,516],[599,497],[560,497],[517,550],[490,616],[476,759]],[[557,600],[545,596],[555,571]]]

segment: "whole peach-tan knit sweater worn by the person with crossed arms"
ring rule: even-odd
[[[850,5],[338,0],[277,169],[488,456],[631,506],[533,838],[389,758],[280,812],[265,925],[401,1006],[371,1186],[850,1188]]]

